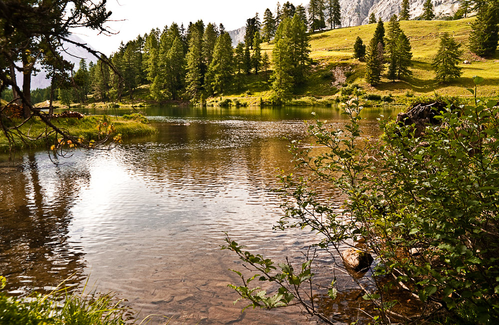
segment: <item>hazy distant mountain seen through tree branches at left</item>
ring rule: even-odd
[[[71,34],[69,36],[69,39],[75,42],[79,42],[82,44],[85,44],[85,41],[81,39],[80,37]],[[93,49],[93,47],[89,44],[86,44],[86,46],[90,47]],[[78,69],[78,66],[80,64],[80,59],[85,59],[87,61],[87,64],[92,61],[92,62],[97,62],[97,58],[87,50],[78,47],[72,43],[63,43],[63,48],[64,51],[62,51],[62,57],[65,60],[68,60],[69,62],[74,64],[75,70]],[[31,89],[36,89],[36,88],[46,88],[50,86],[50,79],[47,79],[47,74],[45,71],[43,71],[42,67],[40,64],[35,65],[35,67],[39,70],[36,75],[31,76]],[[17,84],[19,87],[22,86],[22,72],[17,71],[16,72],[16,79],[17,79]]]

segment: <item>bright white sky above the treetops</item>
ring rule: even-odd
[[[285,1],[281,0],[280,4]],[[308,0],[290,0],[294,5],[305,4]],[[94,49],[106,55],[116,51],[120,42],[126,43],[138,34],[143,35],[152,28],[163,27],[172,22],[179,26],[189,21],[203,19],[208,22],[223,23],[226,30],[233,30],[246,24],[246,19],[259,13],[262,20],[265,8],[275,11],[277,0],[108,0],[106,7],[112,11],[108,27],[115,35],[97,35],[92,30],[74,30]]]

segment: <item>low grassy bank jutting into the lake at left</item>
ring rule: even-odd
[[[20,122],[20,121],[19,121]],[[150,135],[156,133],[156,129],[147,123],[147,120],[139,115],[125,117],[110,117],[110,116],[85,116],[78,120],[75,118],[61,118],[52,120],[54,125],[60,129],[64,129],[71,135],[83,138],[85,140],[98,141],[104,135],[102,133],[102,125],[111,125],[111,136],[121,135],[121,138],[132,138]],[[45,124],[39,118],[33,118],[28,123],[20,127],[20,131],[30,137],[37,138],[44,134]],[[60,138],[60,136],[59,136]],[[15,150],[27,148],[43,148],[54,144],[55,135],[33,139],[27,142],[21,141],[20,137],[14,136],[14,143],[10,144],[4,134],[0,134],[0,152],[8,152],[12,147]]]

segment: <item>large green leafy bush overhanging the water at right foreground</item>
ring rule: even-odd
[[[483,79],[474,81],[478,85]],[[470,91],[476,94],[476,87]],[[363,140],[361,109],[358,99],[346,103],[350,124],[343,130],[320,121],[308,125],[316,144],[328,150],[317,154],[316,146],[293,141],[294,162],[310,176],[280,176],[285,215],[277,228],[307,227],[321,234],[312,246],[330,252],[333,261],[321,265],[310,254],[312,247],[303,264],[276,265],[228,238],[225,248],[258,273],[246,280],[238,272],[243,284],[232,287],[253,308],[296,303],[335,324],[334,313],[324,312],[316,298],[328,289],[334,299],[335,281],[320,287],[314,274],[340,267],[340,247],[362,241],[356,249],[373,254],[377,263],[372,277],[352,280],[376,306],[377,322],[407,324],[444,316],[451,324],[498,324],[498,101],[476,98],[475,105],[434,111],[441,123],[428,125],[422,138],[403,121],[381,122],[379,143]],[[340,212],[338,193],[346,198]],[[269,281],[279,289],[267,294],[253,288],[252,281]],[[391,298],[393,291],[397,299]],[[396,312],[414,300],[409,315]]]

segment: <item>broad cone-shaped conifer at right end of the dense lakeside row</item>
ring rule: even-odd
[[[214,95],[222,94],[231,83],[232,71],[232,39],[229,33],[222,33],[217,38],[213,60],[206,73],[206,90]]]

